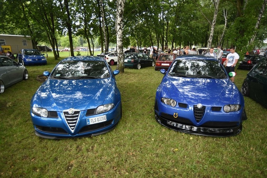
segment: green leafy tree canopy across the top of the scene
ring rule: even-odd
[[[266,0],[221,0],[216,24],[211,26],[215,3],[217,0],[126,0],[123,47],[207,47],[211,27],[211,46],[235,46],[237,51],[263,46],[267,35]],[[108,47],[105,41],[117,43],[114,0],[0,0],[0,6],[0,33],[31,36],[34,46],[49,43],[55,51],[58,43],[66,45],[58,41],[59,37],[68,36],[68,46],[73,50],[73,45],[82,40],[77,38],[80,36],[93,55],[96,37],[102,51]],[[54,55],[58,57],[59,53]]]

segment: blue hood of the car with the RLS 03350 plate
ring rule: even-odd
[[[110,87],[108,79],[56,80],[49,79],[41,88],[39,99],[43,108],[62,111],[64,109],[90,109],[101,105]]]

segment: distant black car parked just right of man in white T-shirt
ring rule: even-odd
[[[243,61],[239,61],[238,69],[250,70],[255,64],[257,64],[261,59],[266,57],[261,55],[245,55]]]

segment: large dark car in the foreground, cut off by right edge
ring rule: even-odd
[[[244,80],[241,93],[267,108],[267,59],[262,59],[252,68]]]

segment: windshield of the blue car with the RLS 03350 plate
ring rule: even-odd
[[[110,74],[102,61],[64,61],[56,67],[51,76],[59,79],[103,79]]]

